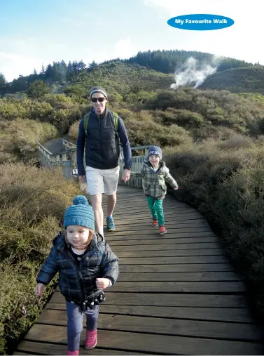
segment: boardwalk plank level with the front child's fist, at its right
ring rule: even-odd
[[[162,291],[197,294],[242,294],[246,291],[243,282],[118,282],[111,289],[119,292],[160,293]]]

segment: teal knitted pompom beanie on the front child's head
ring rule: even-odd
[[[77,195],[73,199],[73,204],[66,209],[63,221],[64,229],[69,225],[81,225],[95,230],[95,215],[84,195]]]

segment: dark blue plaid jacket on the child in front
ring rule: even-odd
[[[65,242],[63,235],[53,241],[53,247],[46,258],[39,275],[38,283],[48,284],[59,272],[59,286],[63,296],[71,301],[91,300],[99,289],[97,278],[109,278],[114,284],[118,279],[118,257],[102,237],[95,233],[87,251],[77,263],[70,251],[71,246]]]

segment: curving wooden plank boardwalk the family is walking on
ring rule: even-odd
[[[120,276],[100,306],[97,348],[80,354],[263,355],[244,284],[207,221],[169,195],[164,206],[168,232],[160,237],[141,190],[119,187],[117,229],[106,240]],[[66,352],[67,314],[55,291],[15,355]]]

